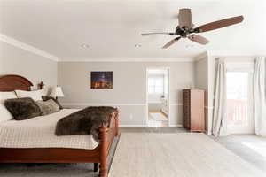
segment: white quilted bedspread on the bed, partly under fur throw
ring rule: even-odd
[[[26,120],[9,120],[0,123],[1,148],[74,148],[92,150],[98,146],[92,135],[55,135],[59,119],[78,111],[63,109],[60,112]]]

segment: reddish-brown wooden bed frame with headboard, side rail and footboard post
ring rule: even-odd
[[[0,91],[30,90],[33,84],[20,75],[0,76]],[[109,127],[101,127],[98,147],[94,150],[70,148],[0,148],[0,163],[94,163],[94,171],[107,177],[107,157],[113,139],[119,135],[118,115],[113,116]]]

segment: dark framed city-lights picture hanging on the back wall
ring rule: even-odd
[[[90,89],[113,89],[113,72],[90,72]]]

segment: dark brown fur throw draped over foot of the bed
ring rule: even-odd
[[[56,135],[93,135],[98,141],[100,127],[109,127],[118,110],[110,106],[90,106],[60,119]]]

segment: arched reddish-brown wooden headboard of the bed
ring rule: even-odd
[[[0,91],[13,91],[15,89],[29,91],[31,86],[33,86],[31,81],[20,75],[0,76]]]

